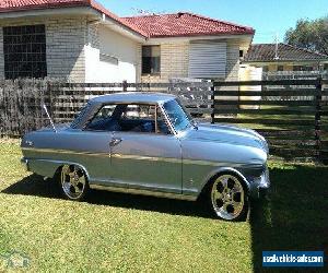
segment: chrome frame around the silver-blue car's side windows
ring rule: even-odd
[[[117,130],[114,130],[114,131],[109,131],[109,130],[95,130],[95,129],[89,129],[87,126],[92,122],[92,120],[99,114],[99,111],[105,107],[105,106],[108,106],[108,105],[145,105],[145,106],[154,106],[156,107],[156,111],[155,111],[155,131],[154,132],[133,132],[133,131],[117,131]],[[157,111],[161,111],[163,118],[164,118],[164,122],[167,127],[167,130],[168,130],[168,133],[165,134],[165,133],[161,133],[159,132],[159,124],[157,124]],[[153,135],[174,135],[175,134],[175,131],[172,130],[172,126],[171,126],[171,122],[167,121],[167,116],[165,114],[165,111],[163,110],[163,108],[161,107],[161,105],[159,103],[156,104],[149,104],[149,103],[133,103],[133,102],[129,102],[129,103],[106,103],[106,104],[102,104],[99,106],[99,108],[94,112],[94,115],[92,116],[92,118],[90,118],[85,124],[83,126],[82,128],[82,131],[87,131],[87,132],[108,132],[108,133],[113,133],[113,132],[120,132],[120,133],[137,133],[137,134],[153,134]]]

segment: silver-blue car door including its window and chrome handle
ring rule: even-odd
[[[152,116],[150,110],[140,110],[142,107],[156,109],[156,114]],[[160,120],[163,116],[159,107],[142,107],[129,105],[120,121],[122,130],[114,132],[110,142],[112,182],[133,189],[181,193],[179,140]],[[144,126],[149,128],[132,128],[133,122],[140,124],[141,120],[149,121]],[[152,122],[155,129],[150,129]]]

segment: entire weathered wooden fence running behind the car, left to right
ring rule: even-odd
[[[70,122],[94,96],[162,92],[179,96],[200,121],[257,130],[267,138],[274,156],[327,161],[327,84],[321,79],[151,84],[2,81],[0,134],[21,136],[48,126],[43,104],[48,106],[55,122]]]

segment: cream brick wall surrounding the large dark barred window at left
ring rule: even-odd
[[[0,21],[0,79],[4,78],[3,26],[45,24],[47,43],[48,78],[66,78],[73,82],[84,82],[84,45],[86,19],[49,17],[38,20]]]

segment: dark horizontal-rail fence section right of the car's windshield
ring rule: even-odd
[[[327,81],[321,79],[218,82],[212,121],[256,129],[266,136],[273,155],[326,162],[328,90],[325,84]],[[242,92],[245,86],[260,88]]]

